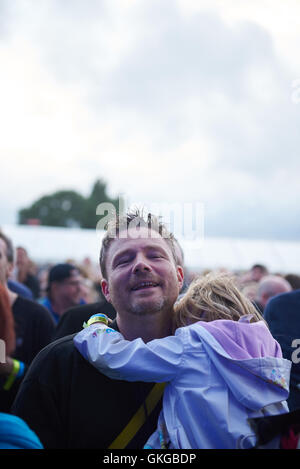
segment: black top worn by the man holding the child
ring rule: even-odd
[[[112,327],[117,329],[116,323]],[[74,347],[75,334],[43,349],[33,361],[14,402],[45,448],[108,448],[121,433],[153,383],[112,380]],[[127,445],[142,448],[156,429],[161,400]]]

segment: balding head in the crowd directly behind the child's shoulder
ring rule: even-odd
[[[266,275],[258,283],[255,302],[263,312],[270,298],[291,290],[291,285],[283,277],[279,275]]]

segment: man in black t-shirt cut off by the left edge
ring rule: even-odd
[[[13,269],[13,253],[10,239],[0,233],[0,323],[6,330],[5,334],[2,330],[4,335],[0,337],[6,344],[5,362],[0,363],[1,412],[10,412],[28,366],[50,342],[55,328],[49,312],[43,306],[8,288],[7,280]],[[6,339],[7,334],[14,339]]]

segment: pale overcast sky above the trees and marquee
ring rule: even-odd
[[[0,0],[0,224],[103,178],[299,239],[297,0]]]

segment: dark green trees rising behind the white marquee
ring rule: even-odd
[[[102,202],[112,203],[118,210],[118,199],[111,199],[106,193],[106,183],[97,180],[87,198],[76,191],[58,191],[41,197],[19,211],[19,224],[38,219],[46,226],[95,228],[99,220],[96,208]]]

